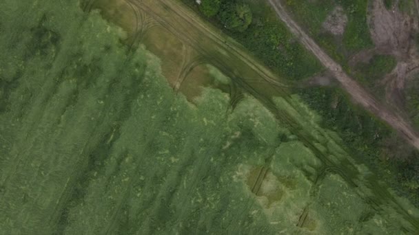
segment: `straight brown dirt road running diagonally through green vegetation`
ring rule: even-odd
[[[397,113],[391,112],[386,109],[380,102],[376,100],[371,94],[363,89],[358,82],[350,78],[342,67],[330,58],[321,49],[313,39],[311,39],[300,26],[287,14],[283,5],[279,0],[268,0],[272,5],[279,18],[287,25],[289,30],[298,37],[298,40],[305,45],[310,52],[316,55],[323,65],[331,71],[334,77],[340,82],[342,87],[351,95],[351,97],[362,107],[365,107],[368,111],[371,111],[382,120],[387,122],[390,126],[395,128],[405,139],[407,139],[414,147],[419,149],[419,137],[418,134],[413,131],[411,125],[404,120]]]

